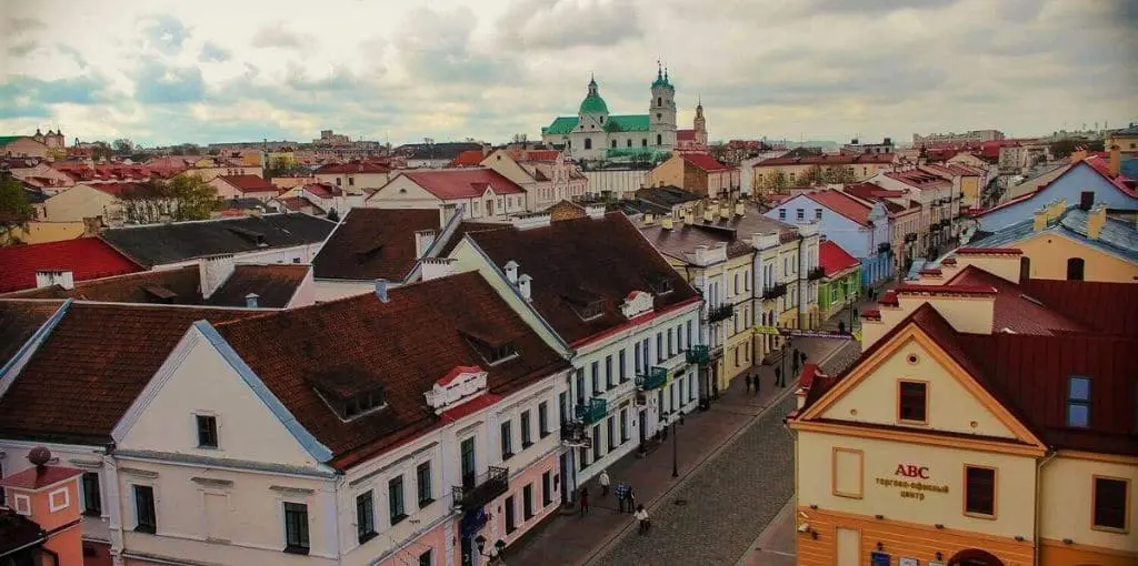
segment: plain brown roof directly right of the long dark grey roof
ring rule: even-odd
[[[415,232],[442,232],[439,219],[437,208],[353,208],[313,259],[315,276],[403,281],[418,259]]]

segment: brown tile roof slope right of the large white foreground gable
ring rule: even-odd
[[[217,331],[341,468],[438,425],[423,393],[455,366],[487,369],[497,394],[569,367],[473,272],[393,289],[386,303],[368,293]],[[512,343],[518,357],[489,366],[471,335]],[[329,375],[348,388],[382,386],[387,407],[341,421],[313,390]]]

